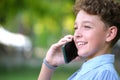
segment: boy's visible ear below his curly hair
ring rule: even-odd
[[[107,35],[106,35],[106,41],[110,42],[112,41],[117,35],[117,27],[116,26],[112,26],[110,28],[108,28],[107,31]]]

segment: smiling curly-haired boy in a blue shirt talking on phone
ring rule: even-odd
[[[120,38],[120,4],[112,0],[77,0],[74,36],[53,44],[43,61],[38,80],[50,80],[56,67],[65,64],[61,47],[72,41],[78,49],[73,61],[86,58],[68,80],[119,80],[114,68],[112,47]]]

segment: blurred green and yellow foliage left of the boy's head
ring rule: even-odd
[[[0,24],[47,47],[73,33],[74,0],[0,0]]]

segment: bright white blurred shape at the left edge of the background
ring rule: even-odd
[[[19,33],[12,33],[0,26],[0,43],[5,46],[12,46],[17,50],[27,53],[32,49],[30,39]],[[26,55],[26,56],[27,56]]]

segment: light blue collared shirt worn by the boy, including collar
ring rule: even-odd
[[[114,55],[104,54],[85,62],[68,80],[119,80]]]

